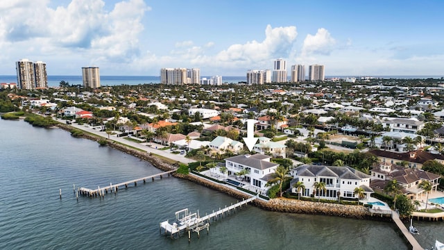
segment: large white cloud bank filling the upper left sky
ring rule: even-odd
[[[139,55],[142,17],[150,10],[143,0],[119,1],[111,11],[102,0],[72,0],[57,8],[49,8],[48,0],[11,2],[0,6],[0,50],[14,44],[8,49],[13,61],[17,55],[41,60],[67,53],[91,63],[128,62]]]

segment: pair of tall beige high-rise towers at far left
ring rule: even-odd
[[[23,90],[36,90],[48,88],[48,75],[46,63],[42,61],[32,62],[22,59],[15,63],[17,70],[17,88]]]

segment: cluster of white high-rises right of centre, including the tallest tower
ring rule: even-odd
[[[309,65],[309,81],[324,81],[324,65]],[[290,81],[287,74],[287,62],[283,59],[277,59],[274,62],[274,69],[257,70],[250,69],[247,71],[247,84],[264,84],[264,83],[298,83],[305,81],[305,66],[292,65]]]

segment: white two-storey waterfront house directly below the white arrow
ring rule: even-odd
[[[271,156],[262,154],[239,155],[225,159],[225,167],[228,170],[228,176],[241,172],[246,169],[244,181],[250,183],[253,187],[250,190],[264,193],[268,190],[266,183],[271,180],[271,174],[278,168],[278,163],[270,162]]]

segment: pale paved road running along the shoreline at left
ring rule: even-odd
[[[55,119],[56,121],[58,121],[62,124],[66,124],[66,120],[64,120],[64,119],[58,119],[57,117],[53,117],[53,119]],[[74,128],[78,128],[80,130],[87,131],[89,133],[93,133],[95,135],[102,136],[103,138],[108,138],[108,134],[105,131],[98,131],[96,129],[93,129],[91,126],[89,126],[87,124],[79,125],[79,124],[73,123],[73,124],[69,124],[69,126],[73,126]],[[110,140],[113,140],[115,142],[120,142],[121,144],[126,144],[128,146],[135,147],[137,149],[142,149],[142,150],[146,151],[147,153],[155,153],[159,156],[163,156],[163,157],[169,158],[171,160],[176,160],[180,163],[188,164],[188,163],[196,162],[196,160],[191,160],[189,158],[185,158],[184,157],[185,155],[174,154],[174,153],[171,153],[171,151],[169,151],[169,150],[155,149],[155,146],[148,147],[145,144],[126,140],[123,137],[117,137],[117,135],[110,135],[109,137],[110,137]]]

